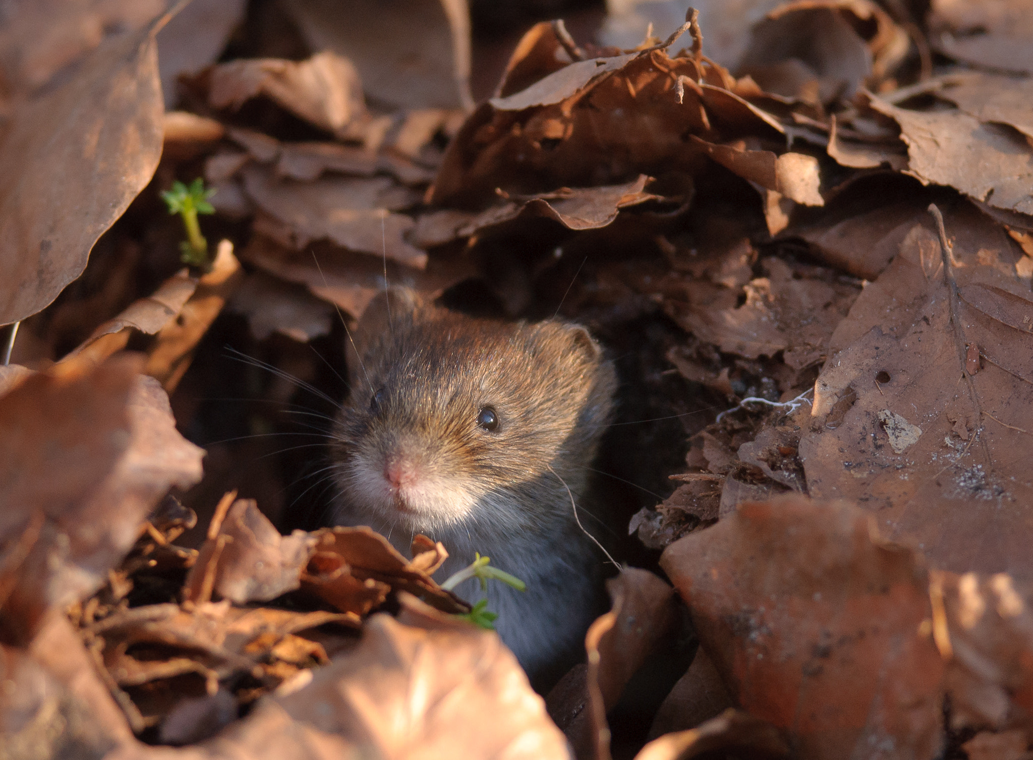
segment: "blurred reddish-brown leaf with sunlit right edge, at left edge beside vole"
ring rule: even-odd
[[[15,636],[98,589],[169,486],[200,479],[204,451],[176,431],[167,397],[139,367],[69,361],[0,399],[2,543],[43,517],[4,600]]]

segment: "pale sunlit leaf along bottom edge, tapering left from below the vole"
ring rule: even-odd
[[[493,720],[484,721],[489,714]],[[216,737],[182,750],[125,745],[108,760],[234,757],[506,758],[568,760],[545,715],[498,636],[465,623],[437,630],[370,619],[350,653],[307,686],[267,697]]]

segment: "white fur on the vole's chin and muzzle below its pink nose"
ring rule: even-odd
[[[424,477],[415,485],[395,492],[381,470],[366,456],[357,455],[345,470],[344,487],[348,501],[375,510],[388,522],[406,530],[440,531],[469,517],[484,496],[473,479]],[[405,509],[400,509],[398,501]]]

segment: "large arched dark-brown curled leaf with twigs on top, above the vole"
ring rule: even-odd
[[[535,27],[518,45],[499,97],[471,114],[449,145],[431,200],[482,207],[496,188],[529,195],[624,183],[640,173],[692,175],[708,165],[709,151],[723,155],[719,142],[743,134],[780,136],[779,121],[745,99],[760,94],[752,81],[737,82],[693,58],[670,58],[676,38],[555,68],[555,61],[541,59],[549,51],[566,54],[551,28]],[[514,91],[516,84],[523,89]],[[775,183],[776,157],[764,160]],[[816,171],[799,168],[786,172],[803,183],[794,192],[819,203]]]

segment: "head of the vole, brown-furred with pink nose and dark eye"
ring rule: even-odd
[[[335,426],[343,516],[434,535],[544,530],[569,512],[550,467],[578,492],[616,385],[585,328],[398,311],[361,336]]]

